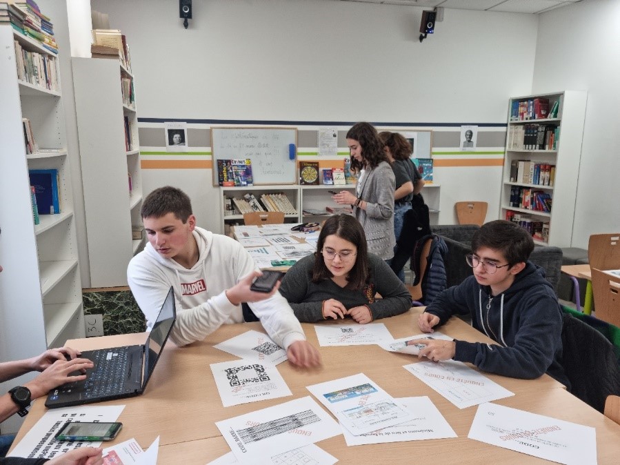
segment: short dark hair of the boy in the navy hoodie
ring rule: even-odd
[[[525,228],[512,221],[496,219],[483,224],[472,237],[472,250],[488,247],[501,253],[510,266],[528,261],[534,240]]]

